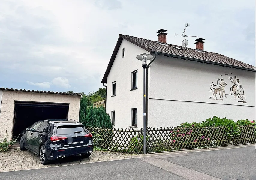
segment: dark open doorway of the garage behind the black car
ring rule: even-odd
[[[13,137],[42,119],[68,119],[69,104],[15,101]]]

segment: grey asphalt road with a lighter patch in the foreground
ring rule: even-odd
[[[256,180],[255,144],[232,149],[208,150],[155,154],[143,158],[5,172],[0,173],[0,179]]]

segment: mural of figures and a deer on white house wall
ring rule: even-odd
[[[233,73],[230,73],[233,74]],[[246,103],[245,100],[245,95],[244,95],[244,89],[242,88],[242,84],[240,82],[240,80],[236,77],[236,76],[229,76],[227,77],[229,74],[225,74],[226,76],[222,77],[223,74],[220,74],[220,78],[217,79],[217,84],[214,84],[212,82],[212,84],[210,85],[210,91],[213,92],[212,96],[210,96],[210,99],[214,99],[214,100],[221,100],[223,101],[224,98],[227,98],[227,95],[233,96],[234,100],[239,99],[242,101],[238,101],[238,102],[242,102],[242,103]],[[226,83],[224,81],[224,79],[229,79],[231,83]],[[229,82],[229,80],[227,80]],[[226,93],[227,94],[226,94]],[[231,98],[231,97],[228,98]],[[219,98],[218,98],[219,97]],[[224,98],[223,98],[224,97]]]

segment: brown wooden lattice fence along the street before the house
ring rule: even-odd
[[[143,153],[143,129],[101,129],[88,127],[100,135],[98,146],[113,152]],[[255,143],[255,125],[209,127],[170,127],[147,129],[147,152],[193,149]]]

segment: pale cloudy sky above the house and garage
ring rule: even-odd
[[[255,66],[255,0],[1,0],[0,87],[97,91],[119,34],[204,50]],[[195,38],[187,38],[195,48]]]

